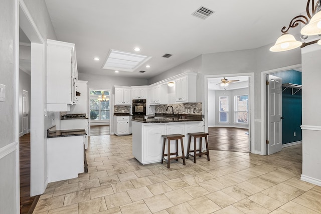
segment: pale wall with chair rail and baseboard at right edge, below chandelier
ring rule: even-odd
[[[302,174],[301,179],[321,186],[321,47],[302,49]]]

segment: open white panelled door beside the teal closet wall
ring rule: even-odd
[[[267,154],[282,150],[282,79],[267,75]]]

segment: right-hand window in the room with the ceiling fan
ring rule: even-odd
[[[234,97],[235,123],[248,123],[248,95],[239,95]]]

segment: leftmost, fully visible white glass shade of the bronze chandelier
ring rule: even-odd
[[[288,51],[298,48],[302,45],[301,42],[296,41],[291,34],[282,34],[276,42],[275,45],[270,48],[272,52]]]

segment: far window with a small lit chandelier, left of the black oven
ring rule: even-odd
[[[90,120],[93,122],[109,121],[109,91],[90,90]]]

